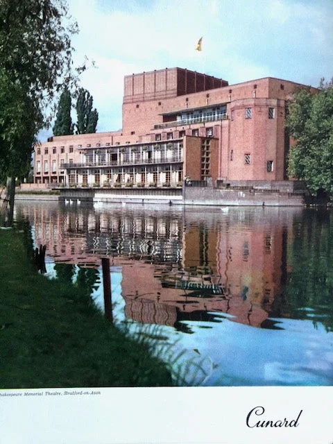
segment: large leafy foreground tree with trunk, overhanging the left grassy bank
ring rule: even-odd
[[[65,0],[0,0],[0,177],[7,176],[6,223],[12,224],[15,177],[28,168],[37,132],[71,77]]]

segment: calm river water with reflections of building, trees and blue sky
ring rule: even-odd
[[[90,287],[184,385],[333,384],[333,214],[17,202],[49,278]],[[126,323],[125,321],[130,321]]]

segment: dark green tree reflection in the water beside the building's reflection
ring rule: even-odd
[[[333,223],[331,212],[303,212],[293,224],[287,295],[290,316],[333,331]]]

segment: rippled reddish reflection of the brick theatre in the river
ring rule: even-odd
[[[96,267],[101,256],[112,257],[122,269],[126,317],[135,321],[189,333],[182,321],[214,323],[226,316],[272,327],[272,307],[275,312],[283,303],[293,222],[287,210],[206,214],[115,206],[102,212],[31,205],[22,212],[36,244],[46,244],[56,262]]]

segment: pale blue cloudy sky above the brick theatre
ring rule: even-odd
[[[99,112],[121,128],[123,76],[182,67],[229,84],[272,76],[318,86],[333,76],[332,0],[68,0],[76,60]],[[195,51],[203,36],[203,51]]]

